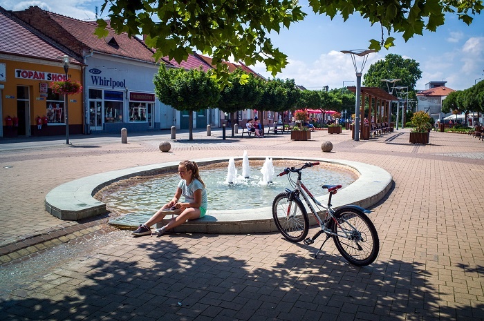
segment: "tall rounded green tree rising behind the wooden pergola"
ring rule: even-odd
[[[418,79],[422,78],[422,70],[418,68],[420,64],[413,59],[404,59],[400,55],[389,54],[384,59],[372,64],[368,72],[363,76],[363,86],[379,87],[389,91],[388,84],[382,79],[401,79],[395,82],[395,86],[408,87],[409,91],[414,91]]]

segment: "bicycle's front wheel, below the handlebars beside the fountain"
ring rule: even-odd
[[[280,193],[272,203],[272,217],[284,237],[290,242],[301,242],[309,231],[306,208],[299,198],[289,201],[290,193]]]

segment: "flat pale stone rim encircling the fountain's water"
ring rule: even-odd
[[[195,159],[195,162],[200,166],[228,161],[234,158],[241,160],[242,157],[210,157],[203,159]],[[338,164],[353,168],[360,174],[360,177],[355,182],[342,188],[338,191],[337,197],[333,199],[333,206],[338,207],[345,204],[355,204],[362,207],[369,207],[380,201],[384,195],[387,194],[391,188],[392,177],[384,169],[369,164],[360,162],[353,162],[340,159],[324,159],[320,157],[292,157],[292,156],[272,156],[274,160],[294,159],[308,162],[325,162],[328,164]],[[250,160],[263,160],[266,157],[249,157]],[[117,182],[120,179],[127,179],[136,175],[151,175],[160,168],[177,168],[179,162],[167,162],[162,164],[151,164],[146,166],[137,166],[126,168],[118,171],[109,171],[75,179],[57,186],[46,195],[45,205],[46,211],[62,220],[80,220],[86,217],[92,217],[102,213],[106,213],[106,204],[99,202],[93,198],[93,195],[100,191],[101,188]],[[282,191],[281,191],[282,192]],[[317,197],[319,202],[326,204],[328,195]],[[243,220],[241,220],[243,217]],[[248,224],[252,222],[268,222],[272,220],[272,208],[264,207],[242,209],[242,210],[223,210],[209,208],[207,216],[202,219],[195,220],[182,226],[190,226],[193,224],[207,224],[210,222],[217,222],[218,224],[234,223],[239,225]],[[180,230],[185,227],[180,226]],[[229,232],[232,232],[233,228]],[[272,228],[270,228],[272,230]],[[198,231],[198,230],[197,230]],[[210,231],[207,231],[210,233]]]

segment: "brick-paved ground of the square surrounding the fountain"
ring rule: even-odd
[[[151,133],[129,144],[73,137],[73,146],[0,140],[0,275],[48,255],[57,260],[0,282],[0,320],[484,320],[484,142],[432,132],[431,144],[417,146],[407,129],[361,142],[346,130],[314,132],[308,142],[227,134],[173,141]],[[162,140],[170,153],[158,150]],[[326,140],[332,153],[322,153]],[[44,210],[46,193],[73,179],[243,150],[348,159],[391,173],[391,193],[370,214],[378,259],[351,266],[331,242],[313,259],[322,239],[305,246],[279,233],[131,238],[106,226],[109,214],[62,222]],[[96,243],[100,235],[109,242]],[[62,255],[76,242],[84,252]]]

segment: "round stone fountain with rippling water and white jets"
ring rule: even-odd
[[[233,172],[231,180],[234,184],[225,182],[227,162],[230,159],[223,157],[195,159],[201,168],[201,176],[207,184],[210,197],[209,212],[200,220],[179,226],[176,231],[254,233],[276,229],[272,220],[272,200],[275,195],[288,187],[287,178],[277,177],[276,179],[274,175],[272,184],[263,186],[260,169],[266,157],[249,157],[250,166],[257,168],[252,171],[255,173],[251,173],[251,179],[244,179],[241,175],[237,177],[234,165],[242,164],[242,159],[237,157],[235,159],[236,161],[232,160],[231,166],[231,173]],[[322,183],[344,185],[344,188],[338,191],[338,194],[341,193],[340,197],[333,200],[333,206],[357,204],[369,207],[379,202],[391,188],[391,175],[376,166],[306,157],[277,156],[271,159],[274,167],[270,166],[268,160],[264,170],[266,175],[272,172],[268,171],[268,166],[279,173],[288,166],[300,165],[304,162],[321,162],[321,166],[308,168],[304,182],[308,188],[315,191]],[[46,211],[62,220],[80,220],[106,213],[106,206],[109,206],[109,211],[119,215],[111,217],[109,224],[134,228],[140,222],[145,222],[147,217],[151,217],[153,211],[158,210],[160,200],[170,200],[173,197],[173,189],[166,186],[178,184],[180,177],[176,173],[177,170],[178,162],[169,162],[136,166],[76,179],[57,186],[46,195]],[[341,177],[338,175],[339,170],[344,173],[350,172],[350,175],[344,175],[348,176],[346,178]],[[355,175],[359,177],[356,181]],[[267,176],[264,180],[270,182],[272,178]],[[346,184],[343,181],[346,181]],[[116,184],[112,184],[113,182]],[[118,184],[118,182],[124,183]],[[132,188],[127,189],[130,186]],[[319,191],[317,200],[325,204],[328,194],[322,190]]]

